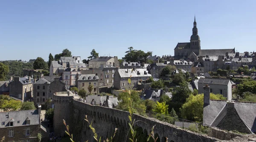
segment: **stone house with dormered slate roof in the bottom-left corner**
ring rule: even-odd
[[[42,133],[41,106],[37,110],[19,110],[0,112],[0,137],[5,142],[37,142],[38,133]]]

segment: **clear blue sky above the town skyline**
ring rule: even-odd
[[[130,46],[174,55],[189,42],[194,14],[201,49],[256,46],[256,0],[1,0],[0,60],[42,57],[63,49],[87,59],[121,58]]]

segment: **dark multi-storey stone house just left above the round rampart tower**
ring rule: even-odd
[[[67,91],[65,89],[64,82],[60,81],[59,78],[55,78],[53,81],[47,81],[46,78],[41,78],[34,84],[34,97],[35,104],[40,104],[42,109],[45,109],[45,102],[47,99],[53,98],[53,93]]]

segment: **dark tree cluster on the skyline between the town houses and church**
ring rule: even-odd
[[[124,61],[131,61],[131,62],[137,62],[138,60],[141,62],[146,62],[148,56],[152,56],[152,52],[144,52],[142,50],[134,50],[133,48],[129,47],[129,51],[126,52],[127,54],[122,59]]]

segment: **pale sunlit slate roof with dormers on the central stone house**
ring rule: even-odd
[[[146,75],[144,75],[144,71],[147,72]],[[140,75],[137,74],[137,72],[140,72]],[[118,69],[118,73],[121,78],[129,78],[131,77],[151,77],[151,74],[148,73],[147,69]]]

